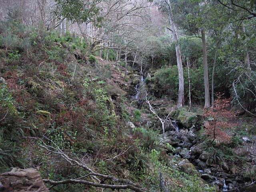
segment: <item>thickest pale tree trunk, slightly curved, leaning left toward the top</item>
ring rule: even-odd
[[[178,64],[179,94],[178,94],[177,108],[181,108],[184,104],[184,78],[183,78],[182,60],[181,60],[181,54],[180,54],[180,45],[178,42],[178,34],[176,32],[175,23],[173,20],[172,7],[169,0],[167,0],[166,2],[169,6],[169,16],[170,16],[169,20],[170,20],[173,40],[175,43],[175,50],[176,50],[176,57],[177,57],[177,64]]]

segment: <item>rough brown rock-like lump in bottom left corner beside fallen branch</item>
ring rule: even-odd
[[[0,174],[0,191],[5,192],[49,192],[40,173],[34,168],[13,168]]]

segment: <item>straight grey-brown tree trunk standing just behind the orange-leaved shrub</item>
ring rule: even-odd
[[[209,108],[210,107],[210,92],[209,92],[206,39],[205,39],[204,30],[201,30],[201,34],[202,34],[203,58],[204,58],[204,108]]]

